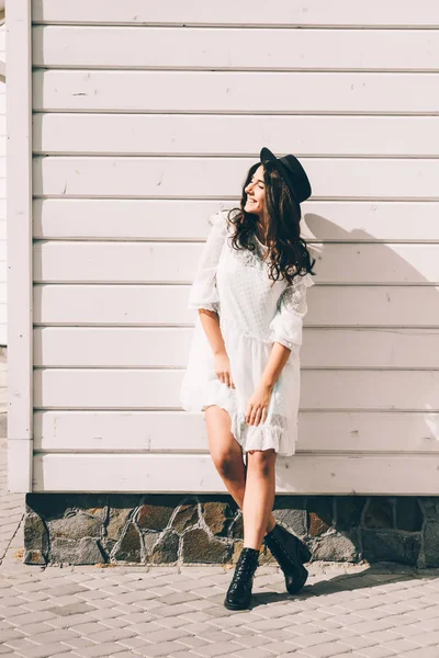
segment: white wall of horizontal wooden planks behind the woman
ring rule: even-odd
[[[179,407],[261,146],[323,245],[278,492],[439,492],[439,4],[33,1],[35,491],[225,491]]]

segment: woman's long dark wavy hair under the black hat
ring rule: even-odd
[[[235,226],[232,238],[234,249],[255,251],[251,237],[256,232],[259,217],[246,213],[247,202],[245,192],[255,171],[261,162],[256,162],[248,170],[240,198],[240,206],[227,213],[227,220]],[[267,227],[264,243],[268,247],[269,277],[273,281],[286,279],[293,282],[295,276],[315,274],[315,259],[311,257],[306,240],[301,237],[301,208],[294,200],[289,186],[283,181],[275,161],[263,162],[263,181],[266,185],[263,223]]]

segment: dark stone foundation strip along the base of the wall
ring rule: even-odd
[[[277,521],[313,560],[439,566],[439,498],[277,496]],[[27,494],[24,561],[235,564],[243,518],[228,495]],[[277,564],[261,548],[260,564]]]

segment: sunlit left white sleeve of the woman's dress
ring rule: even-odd
[[[216,290],[216,266],[227,235],[226,218],[217,213],[209,218],[211,231],[204,243],[192,283],[188,308],[205,308],[218,313],[219,297]]]

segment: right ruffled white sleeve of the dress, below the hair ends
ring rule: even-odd
[[[302,344],[303,318],[307,311],[306,288],[314,285],[311,274],[296,276],[281,293],[270,322],[269,339],[290,350]]]

